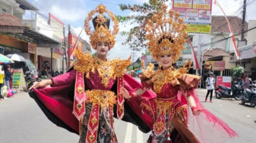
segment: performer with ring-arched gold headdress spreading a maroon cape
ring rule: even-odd
[[[99,15],[93,18],[95,13]],[[103,13],[107,13],[114,22],[113,31],[109,30],[110,19]],[[90,31],[91,20],[94,31]],[[119,31],[114,14],[100,4],[89,13],[84,26],[97,55],[93,57],[76,50],[74,67],[63,75],[36,83],[30,96],[49,120],[79,134],[79,143],[117,143],[113,117],[137,125],[142,132],[149,132],[152,121],[138,107],[141,101],[155,95],[147,91],[144,98],[125,101],[120,89],[124,87],[133,92],[141,85],[125,75],[131,58],[112,61],[106,58]]]

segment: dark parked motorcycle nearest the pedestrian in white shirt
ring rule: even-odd
[[[221,91],[218,91],[221,89]],[[231,94],[232,91],[232,94]],[[219,86],[219,88],[215,89],[215,95],[217,99],[221,98],[234,98],[236,100],[241,100],[243,97],[243,87],[234,84],[231,88],[225,86]]]

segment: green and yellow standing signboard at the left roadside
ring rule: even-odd
[[[25,90],[27,90],[27,85],[22,68],[13,69],[12,85],[15,89],[18,88],[18,90],[20,90],[25,88]]]

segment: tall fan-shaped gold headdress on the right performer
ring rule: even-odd
[[[179,18],[179,13],[173,10],[167,11],[167,6],[163,4],[161,10],[148,20],[146,26],[146,39],[149,40],[147,45],[152,57],[159,60],[161,55],[171,54],[174,60],[181,56],[181,50],[185,49],[187,28],[183,19]]]

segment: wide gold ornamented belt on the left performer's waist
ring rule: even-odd
[[[85,91],[85,94],[92,105],[99,104],[100,107],[109,107],[116,103],[115,93],[112,91],[92,89]]]

